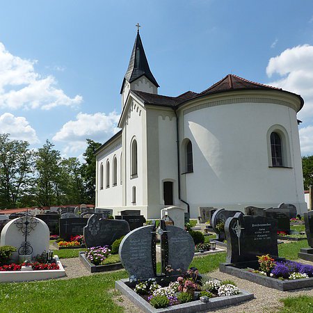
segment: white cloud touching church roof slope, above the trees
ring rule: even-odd
[[[58,131],[52,140],[65,142],[65,154],[86,149],[86,138],[104,143],[118,131],[118,120],[120,115],[115,111],[106,115],[105,113],[79,113],[76,120],[70,120]]]

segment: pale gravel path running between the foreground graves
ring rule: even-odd
[[[66,277],[60,279],[71,279],[78,278],[82,276],[94,275],[90,273],[83,267],[78,257],[72,259],[61,259],[61,262],[65,268]],[[301,260],[302,263],[310,264],[310,262],[305,262]],[[255,299],[241,303],[234,307],[224,307],[220,310],[214,310],[213,312],[227,312],[227,313],[264,313],[264,312],[277,312],[281,307],[279,299],[287,298],[289,296],[300,296],[307,295],[313,296],[313,288],[298,289],[296,291],[279,291],[276,289],[267,288],[254,282],[249,282],[248,280],[242,280],[241,278],[236,278],[232,275],[225,273],[220,273],[220,271],[214,271],[209,274],[212,278],[217,278],[219,280],[233,280],[238,284],[239,289],[253,292],[255,294]],[[136,306],[134,306],[130,300],[125,296],[116,295],[113,297],[115,303],[121,305],[125,308],[127,313],[140,313]],[[212,311],[211,311],[212,312]]]

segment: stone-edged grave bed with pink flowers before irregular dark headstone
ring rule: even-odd
[[[79,259],[91,273],[115,271],[123,268],[118,255],[111,255],[108,246],[91,247],[86,252],[79,252]]]

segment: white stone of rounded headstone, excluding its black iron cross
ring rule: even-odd
[[[3,227],[1,232],[0,246],[13,246],[17,248],[17,252],[14,252],[12,256],[14,262],[16,262],[19,257],[19,248],[22,246],[22,243],[25,242],[25,236],[21,227],[17,227],[17,225],[21,226],[23,218],[25,217],[10,220],[10,222]],[[27,241],[29,241],[31,245],[31,255],[35,257],[36,255],[41,255],[44,250],[49,250],[50,232],[49,227],[43,220],[34,217],[33,222],[35,226],[31,228],[31,231],[27,235]]]

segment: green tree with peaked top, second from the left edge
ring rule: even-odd
[[[42,206],[62,204],[61,156],[48,140],[36,153],[36,196]]]

